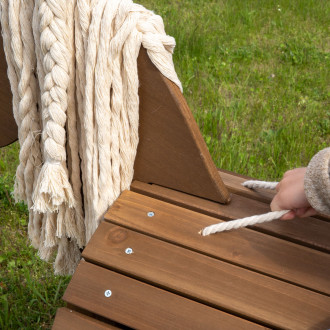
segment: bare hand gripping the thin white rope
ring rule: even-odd
[[[304,218],[316,214],[305,195],[305,172],[305,167],[287,171],[276,187],[277,194],[270,204],[271,210],[292,210],[283,215],[282,220],[289,220],[295,217]]]

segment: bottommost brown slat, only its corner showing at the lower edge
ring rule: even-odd
[[[106,330],[120,329],[119,327],[103,323],[92,317],[69,308],[59,308],[56,312],[52,330]]]

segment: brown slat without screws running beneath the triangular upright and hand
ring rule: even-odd
[[[269,205],[236,194],[232,195],[232,200],[228,205],[221,205],[139,181],[133,181],[131,190],[217,219],[233,220],[270,211]],[[255,225],[253,229],[320,251],[330,252],[330,224],[314,217],[290,221],[277,220]]]

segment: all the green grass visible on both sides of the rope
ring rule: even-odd
[[[277,180],[330,142],[330,4],[142,0],[175,37],[184,95],[218,167]],[[54,277],[11,198],[18,146],[0,150],[0,328],[49,328],[69,277]]]

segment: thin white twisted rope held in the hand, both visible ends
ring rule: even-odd
[[[242,183],[244,187],[264,188],[264,189],[275,189],[277,184],[278,182],[267,182],[267,181],[257,181],[257,180],[249,180]],[[288,212],[290,212],[290,210],[274,211],[274,212],[254,215],[242,219],[232,220],[228,222],[220,222],[218,224],[205,227],[199,233],[202,236],[208,236],[226,230],[238,229],[246,226],[252,226],[258,223],[269,222],[281,218],[284,214]]]

